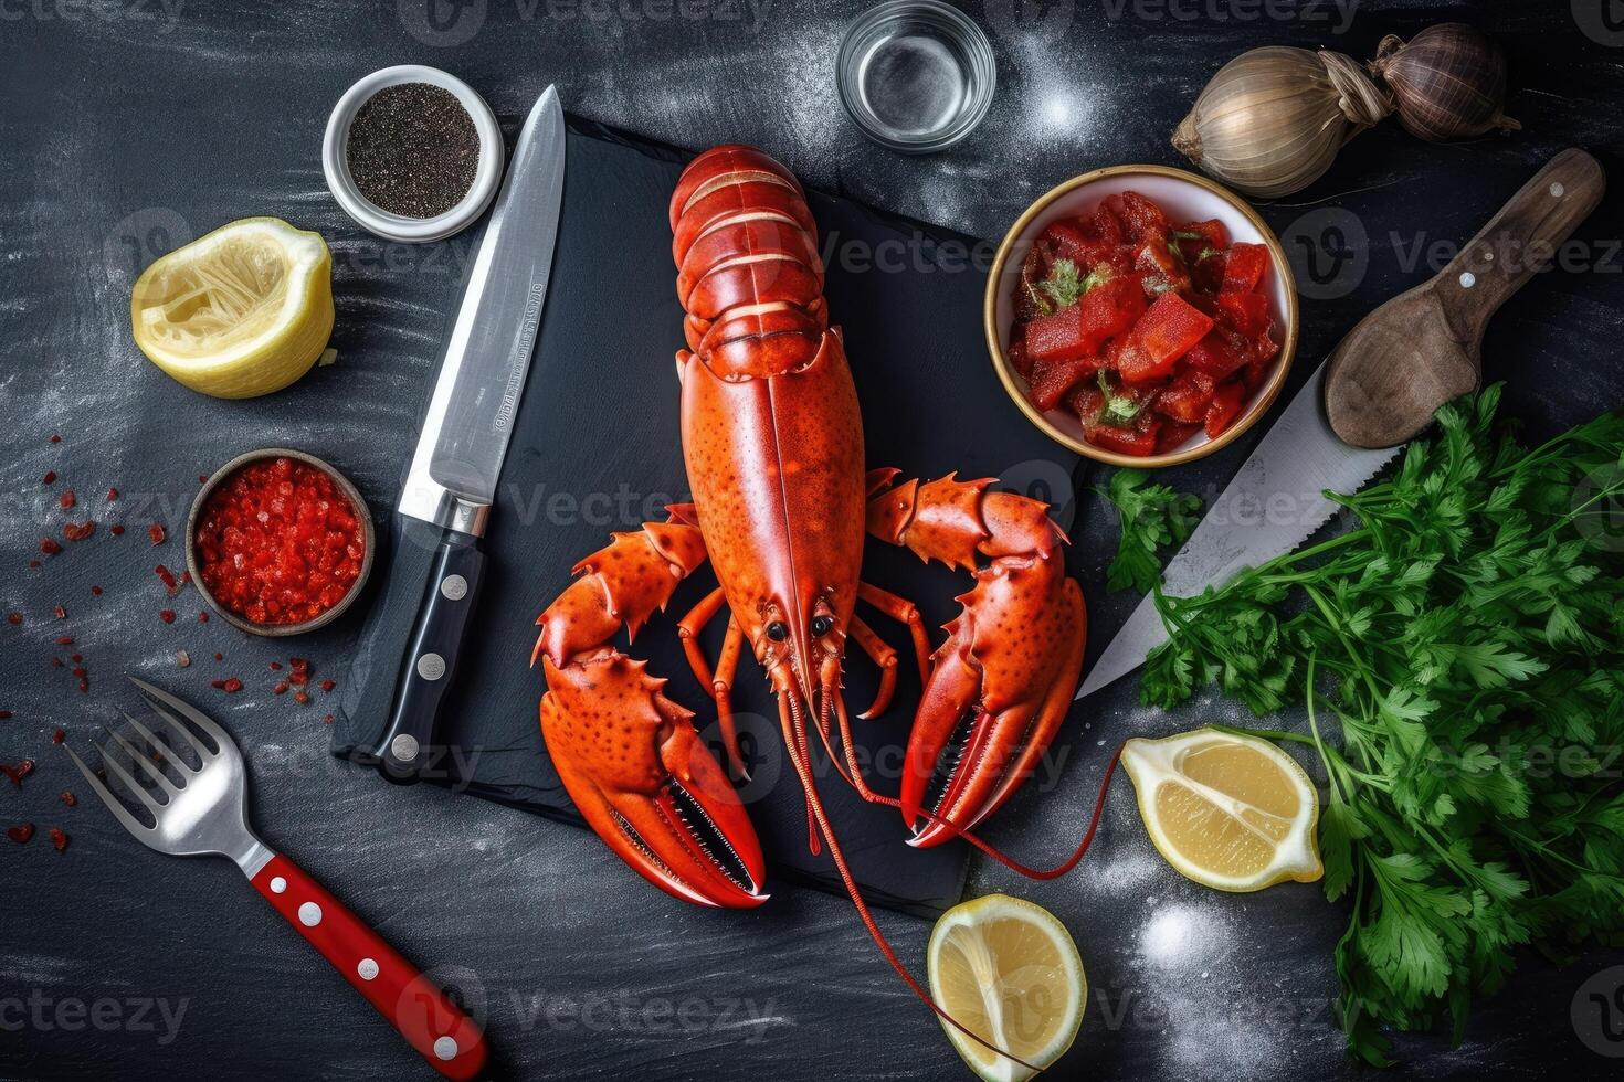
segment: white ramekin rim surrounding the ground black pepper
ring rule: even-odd
[[[400,83],[429,83],[456,94],[479,133],[479,165],[474,170],[474,183],[468,188],[463,201],[445,214],[434,217],[404,217],[370,203],[356,188],[354,177],[349,175],[349,162],[344,157],[344,146],[349,143],[349,123],[356,112],[385,86]],[[476,217],[484,214],[490,204],[497,187],[502,183],[502,128],[497,127],[495,114],[479,94],[455,75],[438,68],[417,63],[403,63],[393,68],[382,68],[362,78],[338,99],[333,115],[326,122],[326,136],[322,140],[322,172],[326,174],[326,187],[333,198],[344,208],[356,222],[387,240],[403,240],[406,243],[422,243],[427,240],[443,240],[455,232],[466,229]]]

